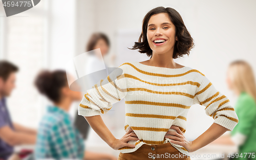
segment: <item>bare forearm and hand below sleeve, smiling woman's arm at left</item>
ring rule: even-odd
[[[100,138],[105,141],[111,148],[118,150],[119,148],[128,146],[135,147],[135,145],[127,143],[128,141],[137,141],[137,135],[130,128],[129,131],[119,140],[111,133],[108,127],[106,127],[100,115],[84,117],[87,122],[90,124],[92,129],[100,136]]]

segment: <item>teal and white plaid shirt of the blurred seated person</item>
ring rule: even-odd
[[[83,158],[83,139],[71,120],[65,110],[48,106],[47,113],[39,124],[36,157]]]

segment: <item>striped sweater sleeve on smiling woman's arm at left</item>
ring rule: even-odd
[[[107,113],[114,103],[125,97],[126,88],[124,65],[120,65],[87,90],[78,106],[78,115],[90,117]]]

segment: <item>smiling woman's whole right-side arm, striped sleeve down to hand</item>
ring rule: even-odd
[[[199,78],[195,82],[200,83],[196,88],[194,104],[198,103],[204,106],[206,115],[214,119],[214,124],[194,141],[187,141],[183,133],[176,126],[172,127],[177,132],[168,131],[166,133],[174,135],[167,135],[166,137],[173,139],[173,143],[183,146],[188,152],[194,152],[206,146],[218,139],[226,131],[232,131],[238,124],[238,116],[231,106],[229,99],[219,92],[201,72],[198,72],[198,74]]]

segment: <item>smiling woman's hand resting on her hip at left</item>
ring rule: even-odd
[[[135,148],[135,145],[129,144],[127,143],[128,141],[138,141],[139,138],[137,137],[137,135],[133,132],[133,129],[130,128],[121,139],[116,139],[113,143],[111,148],[113,148],[114,150],[118,150],[119,148],[122,147],[132,147]]]

